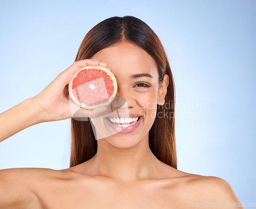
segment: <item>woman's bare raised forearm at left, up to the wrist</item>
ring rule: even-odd
[[[32,98],[26,99],[0,114],[0,142],[40,122],[44,122],[40,107]]]

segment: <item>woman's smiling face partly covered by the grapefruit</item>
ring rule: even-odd
[[[154,59],[146,51],[127,41],[104,48],[91,59],[108,63],[118,87],[116,97],[108,106],[108,110],[100,117],[91,118],[96,128],[97,140],[106,140],[113,146],[128,148],[135,146],[142,139],[148,139],[148,132],[156,117],[157,104],[164,103],[168,75],[165,74],[163,83],[159,85]],[[137,75],[142,73],[145,74]],[[114,119],[137,117],[138,122],[126,119],[124,124],[115,123],[118,121]],[[113,118],[114,123],[108,118]],[[127,126],[128,120],[135,124]],[[119,122],[123,122],[122,119]]]

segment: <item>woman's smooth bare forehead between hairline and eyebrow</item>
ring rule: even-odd
[[[116,77],[137,73],[150,73],[158,77],[155,60],[143,49],[127,41],[104,48],[91,59],[108,63]]]

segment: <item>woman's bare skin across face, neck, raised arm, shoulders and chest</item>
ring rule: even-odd
[[[1,113],[0,141],[40,122],[71,118],[67,84],[88,64],[112,70],[116,96],[125,98],[129,113],[145,116],[141,124],[132,133],[97,140],[96,155],[72,168],[0,170],[0,208],[187,208],[204,202],[240,203],[227,181],[176,170],[151,152],[148,131],[156,104],[164,104],[168,76],[159,85],[154,59],[126,41],[102,49],[91,60],[74,62],[37,96]],[[153,79],[131,79],[139,72],[150,73]],[[89,117],[101,116],[101,110],[88,111]],[[100,118],[104,121],[103,115]]]

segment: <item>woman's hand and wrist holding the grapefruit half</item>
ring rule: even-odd
[[[34,104],[37,105],[42,112],[42,122],[64,120],[73,117],[72,109],[77,109],[78,106],[73,100],[69,99],[68,84],[74,74],[81,67],[87,65],[100,65],[112,70],[108,67],[108,64],[99,60],[86,59],[74,62],[65,71],[59,73],[44,90],[32,97]],[[79,109],[81,109],[79,111],[81,117],[96,117],[102,110],[105,110],[106,107],[96,108],[94,110]]]

